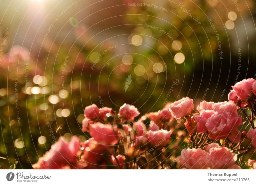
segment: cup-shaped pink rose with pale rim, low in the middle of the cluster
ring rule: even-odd
[[[172,131],[167,131],[164,129],[158,131],[148,131],[147,137],[148,142],[152,146],[166,146],[169,143]]]

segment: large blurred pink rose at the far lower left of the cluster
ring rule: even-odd
[[[80,140],[78,137],[71,137],[70,142],[64,137],[51,146],[49,152],[39,158],[36,164],[33,164],[34,169],[63,169],[72,168],[76,165],[77,152],[80,150]]]

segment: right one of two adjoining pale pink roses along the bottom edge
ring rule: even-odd
[[[237,154],[226,147],[212,147],[209,149],[211,169],[241,169],[235,166]]]

